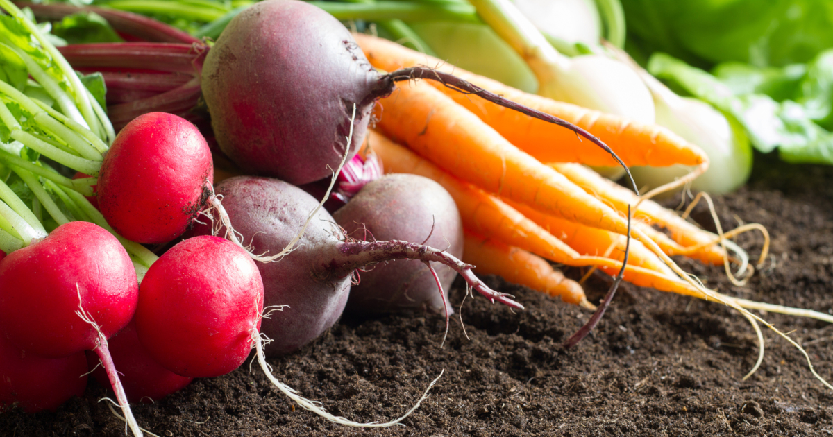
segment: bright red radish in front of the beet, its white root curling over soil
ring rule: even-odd
[[[207,378],[237,369],[260,329],[263,282],[247,251],[218,236],[173,246],[142,280],[139,340],[177,375]]]

